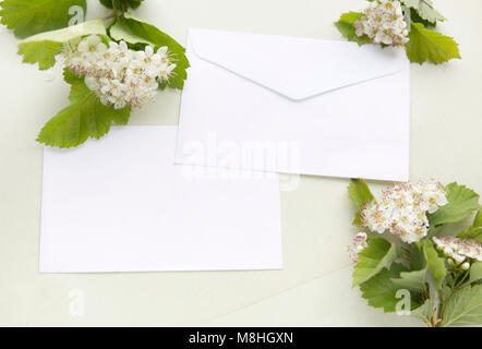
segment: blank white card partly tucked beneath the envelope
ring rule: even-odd
[[[277,177],[173,165],[176,133],[45,148],[40,272],[281,268]]]

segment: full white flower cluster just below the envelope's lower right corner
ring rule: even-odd
[[[379,202],[372,201],[361,209],[362,226],[378,233],[389,230],[402,241],[413,243],[426,236],[426,213],[432,214],[446,204],[445,190],[438,182],[391,185]]]

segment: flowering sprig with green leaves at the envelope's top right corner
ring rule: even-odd
[[[439,64],[460,59],[458,44],[435,31],[444,22],[431,0],[367,0],[363,12],[344,13],[335,23],[338,31],[360,46],[379,44],[401,46],[413,63]]]

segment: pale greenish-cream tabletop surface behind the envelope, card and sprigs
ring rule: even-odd
[[[88,19],[107,13],[97,1],[88,3]],[[482,193],[482,2],[435,3],[449,17],[439,28],[457,38],[463,60],[411,65],[410,177],[457,180]],[[183,44],[188,26],[341,39],[333,22],[364,5],[362,0],[146,0],[136,14]],[[21,64],[16,44],[2,27],[0,325],[419,324],[367,308],[350,288],[345,242],[356,230],[349,226],[352,207],[344,179],[303,177],[298,191],[281,194],[281,272],[39,274],[43,148],[34,140],[65,106],[69,88],[59,70]],[[134,112],[131,123],[176,124],[179,98],[165,93]],[[320,243],[330,254],[310,250]],[[84,294],[83,316],[69,314],[72,290]]]

